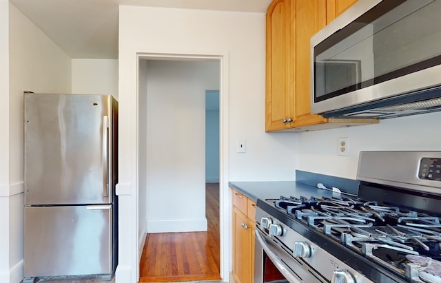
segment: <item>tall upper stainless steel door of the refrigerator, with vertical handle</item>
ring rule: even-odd
[[[25,205],[112,203],[112,96],[25,94]]]

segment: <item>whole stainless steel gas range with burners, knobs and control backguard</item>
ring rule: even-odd
[[[362,151],[358,196],[259,199],[256,239],[283,282],[441,282],[440,170],[439,151]]]

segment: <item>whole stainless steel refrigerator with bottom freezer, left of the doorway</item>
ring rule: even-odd
[[[101,275],[117,260],[118,103],[24,94],[24,276]]]

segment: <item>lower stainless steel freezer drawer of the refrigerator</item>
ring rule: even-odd
[[[25,207],[25,277],[111,274],[112,211],[112,205]]]

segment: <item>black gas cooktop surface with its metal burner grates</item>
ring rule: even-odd
[[[416,272],[415,264],[408,266],[411,256],[441,260],[441,224],[436,216],[361,198],[280,196],[267,201],[287,218],[404,277]]]

